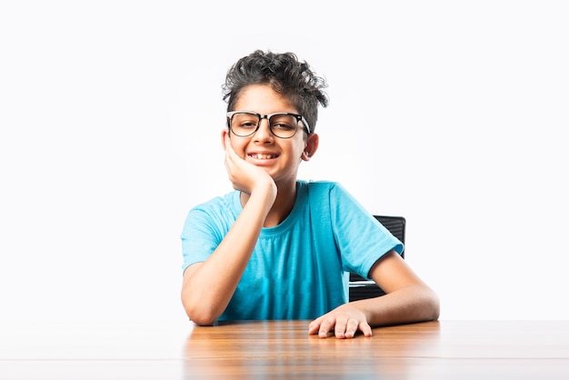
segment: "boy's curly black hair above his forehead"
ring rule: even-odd
[[[318,103],[323,107],[328,105],[328,96],[323,91],[327,87],[325,79],[315,75],[293,53],[255,50],[239,59],[227,72],[222,86],[228,112],[235,111],[235,102],[247,85],[271,85],[275,92],[289,97],[311,132],[318,119]]]

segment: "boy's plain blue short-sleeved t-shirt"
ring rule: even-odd
[[[204,262],[242,210],[238,191],[195,206],[182,233],[183,269]],[[261,230],[219,320],[314,319],[347,302],[349,272],[367,277],[382,255],[403,248],[341,185],[299,180],[293,210]]]

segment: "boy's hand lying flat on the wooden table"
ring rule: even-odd
[[[339,339],[353,338],[358,331],[364,336],[372,336],[372,327],[367,323],[364,313],[349,303],[336,307],[308,325],[308,334],[317,334],[321,338],[327,337],[331,332]]]

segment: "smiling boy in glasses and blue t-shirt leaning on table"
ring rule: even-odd
[[[182,303],[198,325],[311,319],[308,334],[434,320],[437,295],[403,245],[344,188],[296,178],[318,148],[324,79],[292,53],[255,51],[225,79],[225,168],[235,191],[193,208],[182,233]],[[386,295],[347,302],[348,272]]]

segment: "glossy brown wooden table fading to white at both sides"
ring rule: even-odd
[[[441,321],[354,339],[307,325],[0,329],[0,379],[569,379],[569,321]]]

